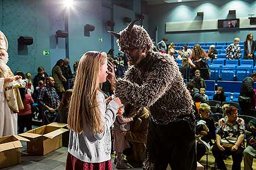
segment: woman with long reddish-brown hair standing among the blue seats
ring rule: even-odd
[[[192,61],[193,59],[193,61]],[[204,49],[201,48],[199,44],[196,44],[193,48],[193,52],[188,58],[188,62],[190,65],[197,70],[201,71],[201,77],[205,80],[209,79],[209,66],[207,64],[207,60],[209,59],[207,53],[205,53]],[[191,75],[195,75],[195,70],[191,69]]]

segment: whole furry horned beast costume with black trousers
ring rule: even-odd
[[[150,36],[135,22],[119,33],[110,33],[118,38],[122,52],[144,46],[148,49],[146,57],[115,84],[115,96],[123,104],[146,107],[151,113],[143,169],[166,169],[168,163],[172,169],[196,169],[191,95],[174,58],[153,52]]]

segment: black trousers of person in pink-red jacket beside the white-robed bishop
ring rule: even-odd
[[[33,114],[18,115],[19,133],[23,133],[25,127],[27,131],[32,129],[32,116]]]

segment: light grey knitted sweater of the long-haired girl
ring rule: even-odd
[[[102,92],[98,92],[98,103],[102,120],[104,120],[102,133],[93,134],[92,130],[84,128],[81,134],[71,130],[69,135],[68,152],[86,163],[101,163],[110,160],[110,126],[115,121],[118,104],[112,100],[106,106]]]

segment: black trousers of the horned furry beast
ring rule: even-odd
[[[167,125],[149,121],[146,156],[143,169],[195,170],[195,124],[187,121],[170,122]]]

